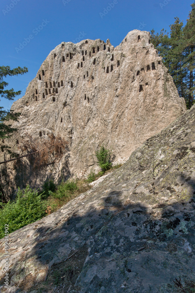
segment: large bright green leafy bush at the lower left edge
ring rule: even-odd
[[[4,226],[9,225],[11,233],[46,216],[46,202],[42,194],[32,190],[29,185],[25,190],[18,188],[15,201],[0,203],[0,238],[4,237]]]

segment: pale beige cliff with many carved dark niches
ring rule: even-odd
[[[39,187],[46,178],[82,176],[94,166],[100,144],[125,162],[145,139],[161,131],[186,111],[162,58],[150,43],[150,33],[133,30],[117,47],[110,41],[62,42],[48,55],[25,96],[13,103],[21,112],[14,138],[5,141],[17,152],[25,133],[42,139],[54,133],[69,142],[60,164],[44,171],[1,166],[1,187],[11,196],[18,187]],[[8,158],[5,152],[1,161]]]

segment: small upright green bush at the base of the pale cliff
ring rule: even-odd
[[[101,146],[100,150],[96,151],[96,157],[98,159],[98,166],[101,168],[102,172],[109,170],[115,160],[115,155],[104,146]]]

